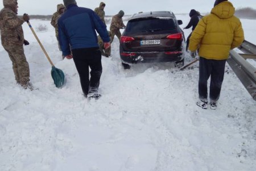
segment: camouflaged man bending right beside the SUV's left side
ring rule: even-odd
[[[125,15],[125,12],[121,10],[118,12],[117,15],[114,15],[112,18],[112,22],[110,24],[110,32],[111,32],[110,43],[112,43],[112,41],[114,40],[115,35],[118,37],[119,41],[121,39],[121,32],[119,31],[119,29],[126,27],[125,24],[123,24],[123,20],[122,20],[123,15]]]

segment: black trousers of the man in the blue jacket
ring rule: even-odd
[[[98,93],[102,73],[101,52],[98,48],[73,49],[73,60],[79,73],[82,92]],[[90,79],[89,79],[90,67]]]

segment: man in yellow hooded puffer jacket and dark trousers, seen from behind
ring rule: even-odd
[[[207,109],[207,81],[210,77],[210,108],[216,109],[224,80],[225,63],[230,49],[244,40],[242,24],[234,16],[235,9],[227,0],[216,0],[209,15],[204,16],[192,33],[189,50],[200,48],[199,56],[199,101]]]

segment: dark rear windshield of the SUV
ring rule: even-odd
[[[150,17],[130,20],[127,23],[127,32],[154,32],[163,30],[174,30],[176,28],[174,19],[171,17]]]

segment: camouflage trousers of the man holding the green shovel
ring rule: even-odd
[[[24,55],[23,45],[3,46],[13,62],[13,72],[18,84],[26,86],[30,81],[30,68]]]

